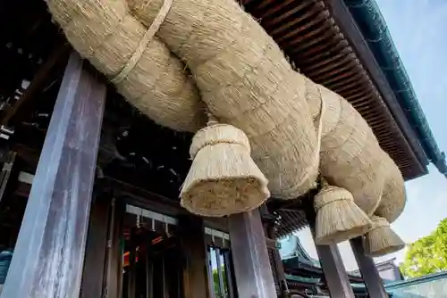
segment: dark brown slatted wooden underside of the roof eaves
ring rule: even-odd
[[[353,104],[404,178],[426,174],[426,154],[342,0],[241,2],[297,70]]]

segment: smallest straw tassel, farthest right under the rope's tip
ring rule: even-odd
[[[373,228],[367,233],[363,246],[365,253],[371,257],[380,257],[388,253],[398,252],[405,243],[390,227],[388,220],[373,215]]]

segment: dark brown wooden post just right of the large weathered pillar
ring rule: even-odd
[[[98,195],[91,206],[89,234],[80,286],[80,297],[82,298],[97,298],[103,294],[111,200],[110,197]]]

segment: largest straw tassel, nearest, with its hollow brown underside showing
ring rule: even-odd
[[[249,139],[239,128],[208,114],[207,128],[192,139],[190,172],[181,188],[188,211],[222,217],[257,208],[270,196],[267,179],[250,156]]]

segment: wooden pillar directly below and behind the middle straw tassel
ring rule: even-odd
[[[308,225],[315,241],[316,213],[313,207],[313,200],[307,200],[304,204],[304,211],[308,219]],[[336,244],[316,245],[316,253],[321,263],[325,280],[331,297],[354,298],[350,279],[344,268],[342,256]]]

